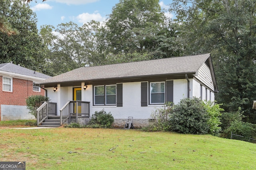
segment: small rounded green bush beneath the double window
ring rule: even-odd
[[[111,128],[114,123],[114,117],[112,114],[106,113],[104,109],[101,111],[95,111],[92,115],[92,119],[88,123],[88,127],[92,128]]]

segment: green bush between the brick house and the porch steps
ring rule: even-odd
[[[37,118],[36,109],[41,106],[42,102],[49,102],[49,98],[41,95],[34,95],[29,96],[26,99],[27,108],[30,110],[29,113],[34,115],[35,118]]]

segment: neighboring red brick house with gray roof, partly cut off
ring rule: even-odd
[[[26,108],[26,98],[44,96],[45,90],[35,83],[50,77],[20,65],[0,64],[0,121],[34,119]]]

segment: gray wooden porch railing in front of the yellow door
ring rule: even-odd
[[[78,123],[78,116],[90,116],[90,102],[83,101],[68,101],[60,109],[60,125],[68,121],[70,123],[71,116],[76,116],[76,123]]]

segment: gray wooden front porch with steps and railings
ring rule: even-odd
[[[90,117],[90,102],[68,101],[57,114],[57,103],[44,102],[37,110],[37,126],[59,127],[64,123],[78,123],[78,118]]]

